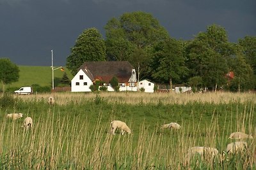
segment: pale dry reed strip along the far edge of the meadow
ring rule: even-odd
[[[31,96],[17,96],[24,100],[40,101],[47,99],[50,94],[36,94]],[[52,94],[58,104],[68,104],[74,102],[76,104],[92,101],[96,96],[101,97],[108,103],[123,104],[186,104],[186,103],[247,103],[251,101],[256,103],[255,93],[231,93],[231,92],[210,92],[207,94],[175,94],[171,93],[144,93],[144,92],[99,92],[99,93],[76,93],[64,92]]]

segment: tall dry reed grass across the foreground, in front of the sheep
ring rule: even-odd
[[[243,113],[236,110],[232,124],[220,124],[227,116],[214,117],[216,113],[212,113],[210,122],[192,121],[182,124],[179,131],[158,127],[148,131],[141,122],[137,131],[132,129],[132,134],[124,136],[109,133],[108,122],[115,117],[104,122],[102,111],[95,124],[49,108],[34,120],[31,131],[20,127],[22,120],[4,119],[0,125],[0,169],[255,169],[254,105],[245,106]],[[195,119],[193,114],[191,117]],[[206,124],[204,129],[202,124]],[[132,122],[129,126],[135,127]],[[253,132],[246,153],[223,162],[199,160],[184,166],[189,147],[210,146],[224,151],[233,131]]]

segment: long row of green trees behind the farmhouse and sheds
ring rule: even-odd
[[[96,28],[83,31],[67,57],[67,67],[77,73],[85,61],[129,61],[138,80],[237,90],[256,89],[256,37],[228,41],[225,28],[209,25],[205,32],[185,41],[169,36],[150,13],[136,11],[111,18],[106,38]],[[234,76],[228,76],[228,73]]]

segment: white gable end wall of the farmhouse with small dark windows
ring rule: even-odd
[[[83,76],[83,79],[80,79],[80,76]],[[92,80],[80,69],[71,80],[71,92],[92,92],[90,89],[92,84]]]

